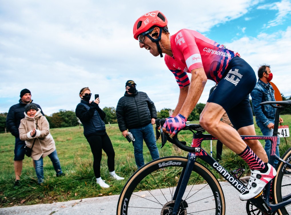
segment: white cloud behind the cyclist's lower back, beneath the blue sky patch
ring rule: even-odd
[[[285,96],[291,95],[291,73],[288,60],[291,49],[291,27],[267,35],[265,33],[255,38],[243,37],[227,44],[227,47],[240,53],[241,57],[248,62],[255,73],[260,64],[266,63],[271,66],[274,75],[272,82],[276,84]]]

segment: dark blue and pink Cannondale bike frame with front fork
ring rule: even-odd
[[[274,132],[273,136],[246,136],[242,135],[241,138],[243,140],[270,140],[272,142],[272,148],[270,151],[270,160],[269,163],[271,165],[274,165],[274,161],[279,160],[283,162],[285,165],[291,168],[291,165],[279,158],[276,155],[276,143],[277,143],[277,134],[278,134],[278,124],[279,124],[279,114],[281,112],[281,109],[276,109],[276,117],[275,117],[275,123],[274,123]],[[215,169],[228,183],[230,183],[235,189],[237,189],[239,192],[243,192],[246,189],[246,186],[241,183],[240,180],[233,177],[226,169],[224,169],[216,160],[214,160],[204,149],[201,148],[201,143],[203,140],[218,140],[217,138],[213,137],[210,134],[203,134],[196,132],[193,134],[193,140],[191,147],[200,148],[200,152],[194,152],[188,153],[188,163],[187,166],[183,169],[177,188],[175,190],[175,193],[173,195],[173,200],[175,200],[175,204],[173,207],[173,215],[176,215],[178,213],[178,208],[180,207],[180,203],[182,200],[182,196],[186,190],[191,171],[194,167],[194,163],[196,161],[196,158],[200,158],[201,160],[204,160],[207,162],[213,169]],[[274,179],[273,179],[274,180]],[[283,199],[283,202],[278,204],[270,204],[269,197],[270,197],[270,187],[271,187],[272,180],[266,185],[267,189],[264,193],[264,199],[263,195],[259,196],[258,198],[252,198],[249,201],[253,203],[256,207],[258,207],[260,210],[262,210],[265,213],[275,212],[276,210],[280,209],[281,207],[288,205],[291,203],[291,194],[288,196],[285,196]]]

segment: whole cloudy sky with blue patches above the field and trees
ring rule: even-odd
[[[100,106],[116,107],[134,80],[157,110],[174,109],[179,88],[164,59],[139,48],[133,24],[160,10],[171,34],[197,30],[240,53],[255,71],[271,65],[273,82],[291,95],[291,1],[0,0],[0,113],[23,88],[45,114],[75,110],[88,86]],[[208,80],[199,102],[206,103]],[[93,96],[92,96],[93,99]]]

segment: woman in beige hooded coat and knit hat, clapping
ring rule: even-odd
[[[25,106],[24,119],[20,121],[19,138],[25,141],[27,147],[32,147],[31,158],[35,163],[38,184],[43,183],[43,158],[49,156],[56,171],[56,176],[62,176],[61,164],[56,152],[56,145],[49,133],[49,122],[34,103]],[[34,144],[33,144],[34,142]]]

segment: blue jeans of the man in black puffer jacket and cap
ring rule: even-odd
[[[132,133],[135,141],[134,143],[134,158],[136,166],[139,168],[144,165],[143,161],[143,140],[145,140],[145,144],[150,150],[150,155],[152,159],[155,160],[159,158],[159,150],[156,145],[156,139],[154,130],[152,128],[152,124],[148,124],[146,126],[134,129],[128,129],[129,132]]]

